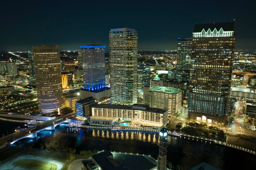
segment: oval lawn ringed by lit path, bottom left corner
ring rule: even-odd
[[[31,169],[31,170],[56,170],[57,165],[50,162],[38,161],[34,159],[20,159],[20,161],[13,162],[13,166],[19,166],[21,168]]]

